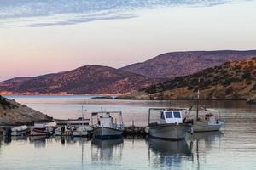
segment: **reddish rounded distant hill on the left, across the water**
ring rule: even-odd
[[[73,71],[0,82],[0,94],[125,94],[156,82],[160,79],[87,65]]]

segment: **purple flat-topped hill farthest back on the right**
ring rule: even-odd
[[[120,68],[146,77],[181,77],[204,69],[222,65],[226,61],[256,57],[252,51],[190,51],[160,54],[143,63],[137,63]]]

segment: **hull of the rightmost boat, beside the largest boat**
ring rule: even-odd
[[[223,122],[194,122],[193,131],[195,133],[219,131],[223,124]]]

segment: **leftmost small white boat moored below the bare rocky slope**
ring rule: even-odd
[[[12,127],[12,128],[8,128],[6,127],[5,129],[3,129],[3,135],[7,136],[7,135],[11,135],[11,136],[24,136],[27,133],[29,133],[30,128],[27,127],[26,125],[20,126],[20,127]],[[8,134],[10,133],[10,134]]]

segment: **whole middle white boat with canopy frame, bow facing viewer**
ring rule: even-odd
[[[119,114],[119,124],[111,114]],[[121,111],[101,111],[93,112],[91,117],[97,116],[97,124],[93,127],[93,138],[96,139],[115,139],[122,137],[124,132],[124,123]]]

